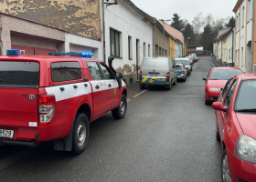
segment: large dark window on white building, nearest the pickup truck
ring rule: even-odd
[[[111,29],[111,56],[120,57],[120,33]]]

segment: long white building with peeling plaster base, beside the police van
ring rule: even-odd
[[[113,67],[123,74],[126,84],[135,82],[143,58],[153,52],[150,18],[130,0],[105,5],[104,14],[106,60],[114,56]]]

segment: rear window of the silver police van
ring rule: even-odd
[[[149,58],[145,58],[143,60],[143,64],[142,67],[144,68],[167,68],[167,59],[149,59]]]

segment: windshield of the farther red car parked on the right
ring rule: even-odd
[[[216,69],[212,71],[209,80],[229,80],[230,77],[240,74],[240,69]]]

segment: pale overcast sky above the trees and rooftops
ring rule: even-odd
[[[132,0],[132,2],[156,19],[172,19],[176,13],[181,19],[187,19],[191,23],[199,12],[204,16],[211,13],[215,19],[234,16],[232,10],[237,0]]]

